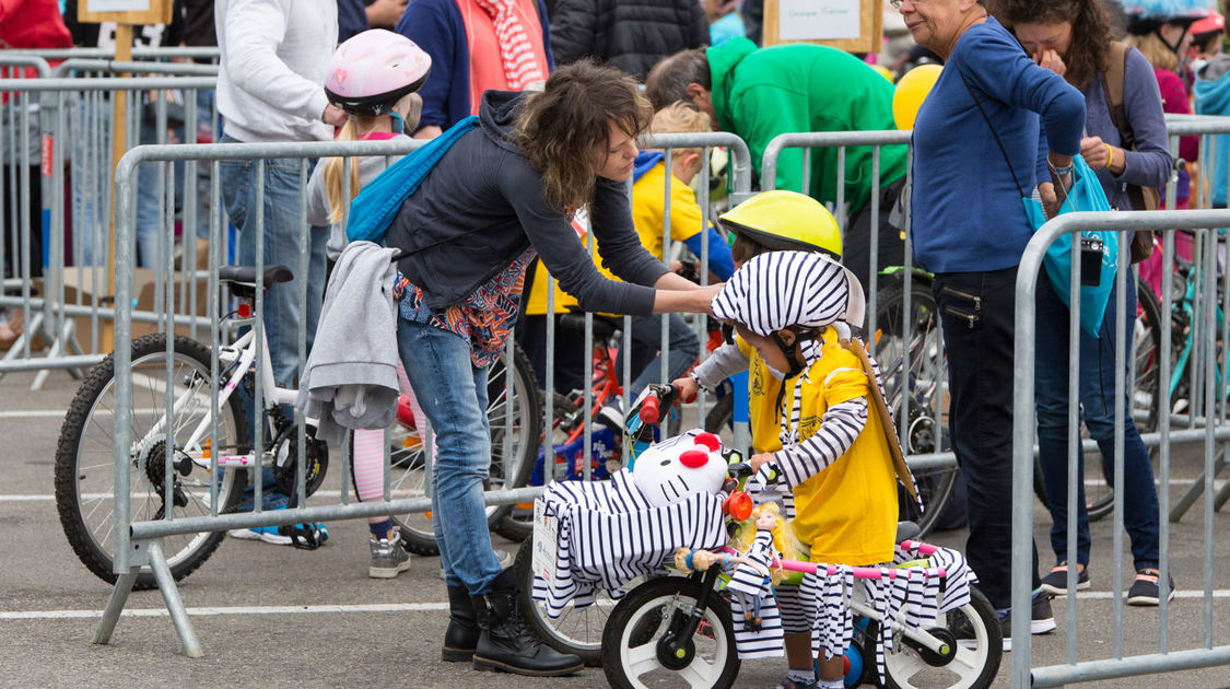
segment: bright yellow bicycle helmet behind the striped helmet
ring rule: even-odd
[[[736,235],[772,251],[819,251],[841,260],[841,229],[814,198],[797,192],[758,193],[718,218]]]

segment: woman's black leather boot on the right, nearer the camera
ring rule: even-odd
[[[474,652],[474,668],[531,677],[579,672],[581,658],[542,643],[525,625],[517,591],[517,573],[509,567],[496,577],[491,593],[474,597],[474,610],[482,630]]]

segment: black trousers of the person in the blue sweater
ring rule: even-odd
[[[1026,566],[1012,551],[1016,267],[940,273],[931,289],[948,354],[952,447],[968,491],[966,557],[991,605],[1004,609],[1011,603],[1014,565]],[[1038,588],[1036,544],[1030,567]]]

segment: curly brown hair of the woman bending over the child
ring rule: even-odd
[[[542,176],[547,201],[574,209],[594,191],[595,146],[610,149],[610,125],[630,137],[649,125],[653,108],[636,80],[588,59],[561,66],[546,87],[525,98],[517,116],[517,144]]]

